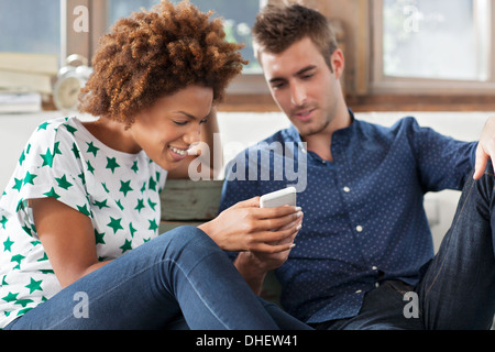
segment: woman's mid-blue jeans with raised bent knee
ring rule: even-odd
[[[183,227],[82,277],[6,330],[306,328],[256,297],[205,232]]]

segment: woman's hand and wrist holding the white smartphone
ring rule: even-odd
[[[300,208],[260,208],[255,197],[226,209],[199,229],[226,251],[274,254],[293,248],[301,221]]]

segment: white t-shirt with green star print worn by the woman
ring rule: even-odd
[[[0,198],[0,329],[62,289],[28,199],[53,197],[88,216],[105,261],[158,234],[165,179],[166,170],[143,151],[114,151],[77,118],[41,124]]]

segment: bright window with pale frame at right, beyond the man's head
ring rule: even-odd
[[[495,86],[491,0],[376,0],[374,92],[481,92]]]

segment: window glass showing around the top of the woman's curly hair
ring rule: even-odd
[[[178,3],[178,0],[173,0]],[[227,40],[233,43],[244,43],[242,55],[250,64],[244,68],[244,74],[260,74],[251,43],[251,26],[263,1],[232,1],[232,0],[191,0],[201,11],[212,10],[216,16],[224,20]],[[160,0],[108,0],[107,28],[110,28],[118,19],[128,16],[132,11],[141,8],[151,9]]]

